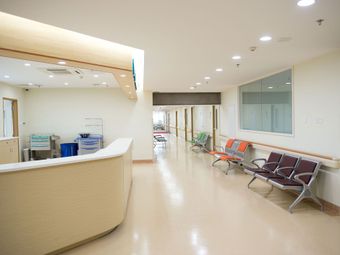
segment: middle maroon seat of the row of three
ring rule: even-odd
[[[284,154],[274,173],[273,172],[256,173],[255,177],[263,181],[268,181],[270,179],[277,178],[290,178],[298,162],[299,162],[298,156]]]

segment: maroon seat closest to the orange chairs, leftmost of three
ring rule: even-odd
[[[271,152],[269,154],[268,159],[265,158],[257,158],[252,160],[250,165],[243,165],[243,170],[245,173],[254,176],[251,181],[248,183],[249,185],[255,181],[255,174],[258,173],[274,173],[276,168],[279,165],[279,162],[282,158],[282,153],[279,152]],[[259,162],[263,162],[262,166],[259,165]]]

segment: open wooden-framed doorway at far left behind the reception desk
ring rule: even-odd
[[[18,100],[4,98],[3,109],[4,137],[19,136]]]

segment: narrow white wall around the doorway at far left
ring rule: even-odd
[[[3,98],[11,98],[18,100],[18,118],[19,118],[19,137],[20,144],[22,144],[25,125],[24,125],[24,90],[14,87],[9,84],[0,82],[0,137],[4,135],[4,123],[3,123]]]

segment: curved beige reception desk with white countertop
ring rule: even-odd
[[[124,220],[132,139],[95,154],[0,165],[0,254],[56,254]]]

